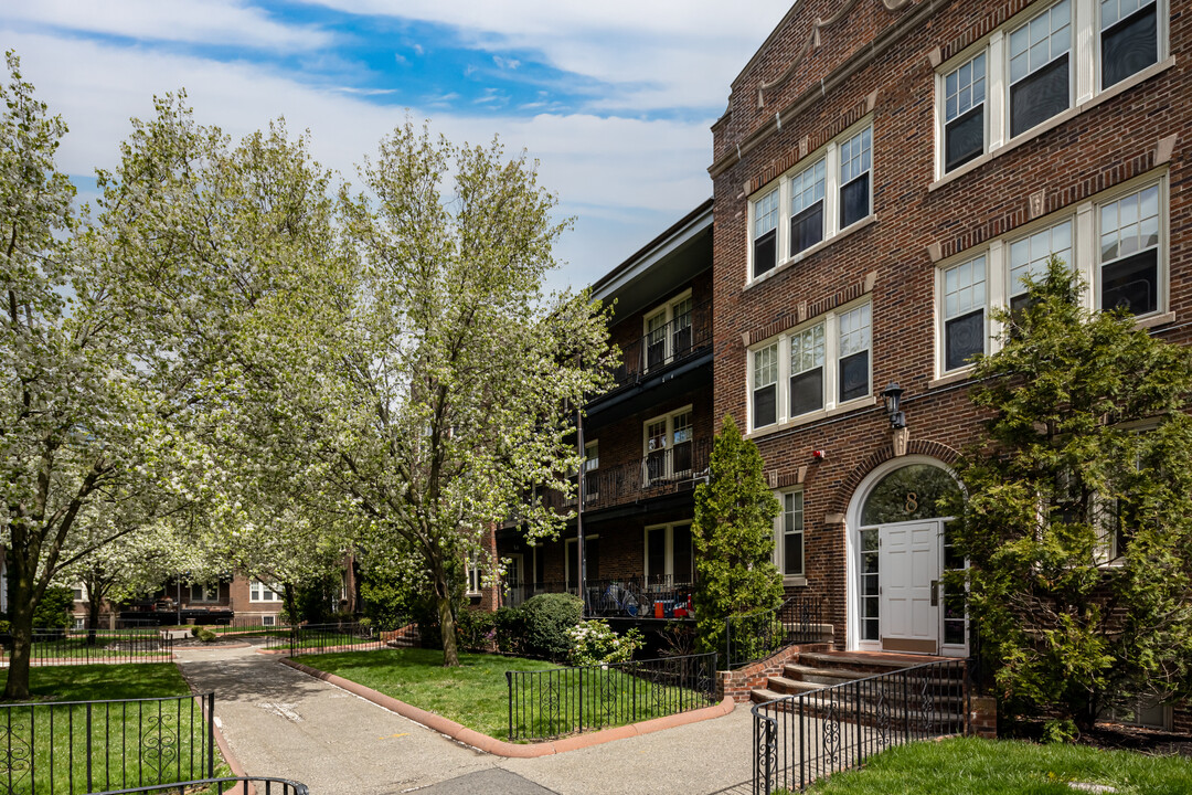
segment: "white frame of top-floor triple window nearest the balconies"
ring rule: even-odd
[[[864,130],[869,130],[869,212],[853,223],[849,224],[846,228],[840,228],[840,145],[848,141],[851,141],[856,136],[861,135]],[[749,262],[746,263],[747,272],[745,274],[745,285],[749,286],[756,281],[770,278],[780,271],[783,271],[786,266],[799,262],[800,260],[811,256],[815,251],[819,251],[822,247],[831,243],[837,237],[851,231],[852,229],[859,228],[867,221],[871,219],[876,215],[874,209],[874,174],[877,167],[877,159],[875,156],[876,136],[874,135],[874,119],[873,116],[867,116],[856,124],[851,125],[848,130],[840,135],[832,138],[830,142],[808,153],[806,157],[800,157],[799,162],[795,163],[784,174],[775,180],[771,180],[766,185],[762,186],[758,191],[749,198]],[[793,185],[794,180],[801,176],[807,169],[815,168],[819,166],[820,161],[824,162],[824,237],[819,243],[811,246],[797,254],[790,254],[790,217],[791,207],[794,206]],[[755,262],[753,262],[753,248],[757,236],[755,232],[755,218],[757,217],[758,205],[768,199],[771,193],[778,192],[778,225],[775,229],[775,266],[766,271],[765,273],[755,275]]]

